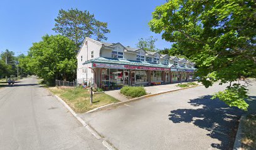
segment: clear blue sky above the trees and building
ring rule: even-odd
[[[170,42],[154,34],[147,23],[156,6],[165,0],[92,1],[92,0],[44,0],[44,1],[0,1],[0,52],[5,49],[16,55],[27,54],[33,42],[45,34],[55,34],[52,28],[60,9],[78,8],[87,10],[99,21],[108,22],[108,42],[121,42],[124,46],[135,47],[139,38],[154,36],[156,47],[171,47]]]

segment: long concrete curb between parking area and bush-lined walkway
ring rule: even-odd
[[[198,86],[203,86],[203,85],[198,85]],[[133,102],[133,101],[139,101],[141,99],[149,98],[151,96],[157,96],[157,95],[160,95],[160,94],[171,93],[171,92],[179,91],[179,90],[182,90],[182,89],[195,88],[195,87],[198,87],[198,86],[190,86],[190,87],[187,87],[187,88],[180,88],[180,89],[173,89],[171,91],[165,91],[165,92],[162,92],[162,93],[148,94],[148,95],[145,95],[145,96],[141,96],[139,98],[130,99],[129,101],[121,101],[119,103],[111,103],[111,104],[107,104],[107,105],[104,105],[104,106],[100,106],[99,108],[92,109],[90,111],[87,111],[86,113],[94,113],[94,112],[97,112],[97,111],[102,111],[102,110],[105,110],[105,109],[110,109],[110,108],[113,108],[113,107],[120,106],[122,104]]]

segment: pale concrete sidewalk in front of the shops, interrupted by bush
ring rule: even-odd
[[[198,82],[195,82],[198,83]],[[157,94],[157,93],[164,93],[168,91],[173,91],[176,89],[182,89],[178,87],[179,83],[173,83],[173,84],[164,84],[164,85],[159,85],[159,86],[146,86],[146,92],[149,94]],[[120,89],[117,90],[111,90],[111,91],[105,91],[105,94],[108,94],[115,99],[118,99],[119,101],[129,101],[129,98],[125,97],[124,95],[120,94]]]

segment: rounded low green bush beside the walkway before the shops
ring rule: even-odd
[[[132,98],[138,98],[147,94],[143,86],[124,86],[120,93]]]

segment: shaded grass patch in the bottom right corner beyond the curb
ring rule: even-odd
[[[256,115],[249,114],[243,121],[242,148],[256,149]]]

